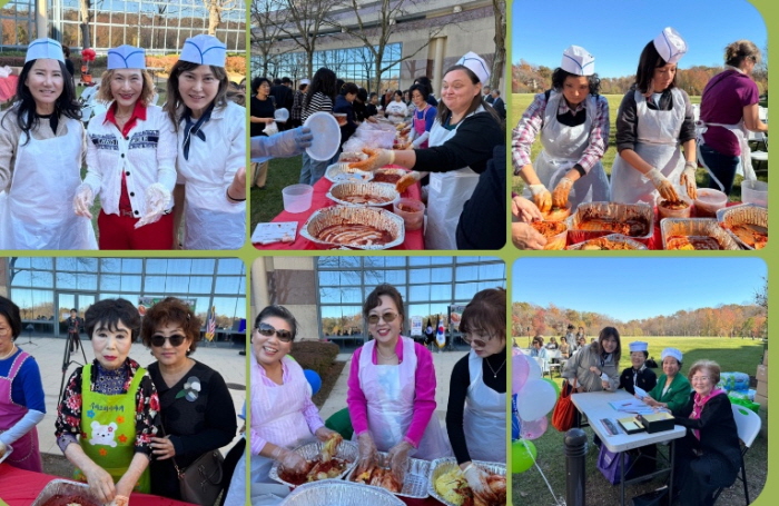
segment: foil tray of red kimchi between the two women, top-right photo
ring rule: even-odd
[[[649,224],[649,230],[645,235],[631,237],[631,239],[648,245],[654,232],[654,209],[648,204],[617,204],[617,202],[588,202],[580,204],[576,212],[565,219],[568,224],[569,242],[575,245],[584,242],[588,239],[608,236],[614,234],[612,230],[579,230],[579,224],[582,218],[588,216],[596,216],[603,219],[614,221],[625,221],[631,218],[643,218]]]

